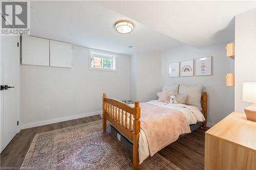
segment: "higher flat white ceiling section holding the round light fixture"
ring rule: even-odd
[[[129,55],[183,44],[97,2],[31,1],[30,6],[31,35],[38,37]],[[117,33],[114,23],[120,19],[133,21],[134,31]]]

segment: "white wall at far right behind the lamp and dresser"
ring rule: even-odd
[[[256,8],[236,15],[235,32],[234,109],[244,112],[251,104],[242,101],[243,82],[256,82]]]

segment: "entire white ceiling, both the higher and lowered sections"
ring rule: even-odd
[[[30,29],[34,36],[127,55],[182,44],[202,48],[233,41],[234,16],[255,6],[255,1],[30,1]],[[134,22],[132,33],[115,31],[122,19]]]

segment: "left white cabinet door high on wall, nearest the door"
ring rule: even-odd
[[[49,66],[49,40],[22,36],[22,64]]]

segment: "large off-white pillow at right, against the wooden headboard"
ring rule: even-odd
[[[186,105],[196,106],[200,111],[201,107],[201,95],[202,95],[202,85],[196,86],[184,86],[180,85],[179,94],[188,95]]]

